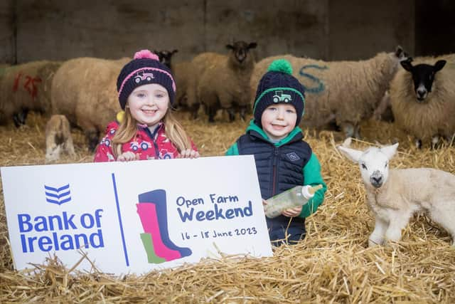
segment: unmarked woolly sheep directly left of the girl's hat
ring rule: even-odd
[[[95,150],[100,133],[121,111],[117,76],[130,61],[100,58],[75,58],[63,63],[52,83],[53,114],[65,115],[87,137],[88,148]]]

